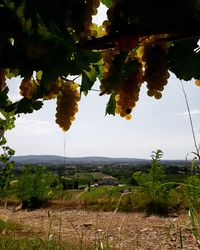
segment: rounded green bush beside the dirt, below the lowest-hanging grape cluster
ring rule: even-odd
[[[23,208],[38,208],[52,198],[56,176],[44,166],[25,166],[18,178],[17,198]]]

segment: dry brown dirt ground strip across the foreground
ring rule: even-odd
[[[146,217],[142,213],[78,209],[14,211],[12,208],[0,208],[0,219],[25,225],[24,234],[28,235],[29,232],[29,237],[37,235],[43,239],[73,242],[79,246],[93,242],[94,249],[95,244],[99,243],[102,249],[106,249],[103,246],[107,244],[120,250],[199,249],[187,214],[164,218]]]

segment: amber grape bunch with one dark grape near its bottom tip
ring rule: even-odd
[[[139,92],[143,83],[142,64],[136,58],[132,62],[132,69],[122,84],[115,89],[115,113],[127,120],[132,118],[131,112],[139,100]]]

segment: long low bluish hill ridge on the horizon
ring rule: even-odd
[[[101,156],[88,156],[88,157],[63,157],[58,155],[26,155],[26,156],[13,156],[12,161],[16,163],[30,163],[30,164],[77,164],[77,163],[149,163],[150,160],[137,159],[137,158],[112,158]]]

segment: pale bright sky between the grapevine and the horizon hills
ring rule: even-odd
[[[105,19],[101,6],[96,23]],[[8,81],[10,98],[19,99],[20,79]],[[182,82],[187,93],[197,143],[200,143],[200,88],[194,80]],[[70,130],[62,132],[55,123],[55,100],[45,101],[43,108],[20,115],[15,128],[6,132],[8,145],[15,155],[60,155],[66,157],[107,156],[149,159],[161,149],[163,159],[193,158],[195,150],[189,116],[180,88],[180,80],[170,74],[163,97],[147,96],[146,84],[129,121],[119,116],[105,116],[109,96],[91,91],[82,95],[79,112]],[[99,88],[99,82],[94,88]]]

